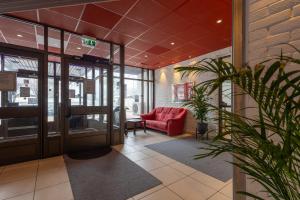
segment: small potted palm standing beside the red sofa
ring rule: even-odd
[[[204,87],[193,87],[191,99],[188,100],[183,106],[191,108],[193,115],[197,122],[197,133],[204,135],[208,131],[207,113],[208,113],[208,100]]]

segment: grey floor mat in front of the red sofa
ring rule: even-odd
[[[230,154],[222,154],[215,158],[207,157],[197,160],[194,159],[195,155],[204,151],[199,148],[205,146],[207,146],[207,144],[197,141],[193,137],[186,137],[183,139],[151,144],[146,147],[210,175],[220,181],[226,182],[231,179],[233,167],[228,163],[232,162],[232,156]]]

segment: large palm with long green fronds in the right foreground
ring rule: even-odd
[[[202,148],[206,151],[196,157],[231,153],[235,158],[232,164],[248,175],[250,181],[259,183],[263,195],[276,200],[299,200],[300,194],[300,70],[295,67],[287,70],[289,64],[299,68],[300,60],[281,54],[255,67],[237,68],[221,59],[204,59],[176,69],[184,76],[213,73],[215,78],[202,84],[211,86],[204,87],[208,94],[230,80],[253,100],[257,113],[254,116],[209,105],[229,123],[214,142]],[[253,106],[244,109],[253,109]],[[259,193],[238,193],[264,199]]]

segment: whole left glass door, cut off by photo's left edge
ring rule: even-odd
[[[42,155],[43,58],[0,47],[0,165]]]

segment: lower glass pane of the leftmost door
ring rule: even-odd
[[[37,137],[39,120],[33,118],[0,119],[0,141],[19,137]]]

